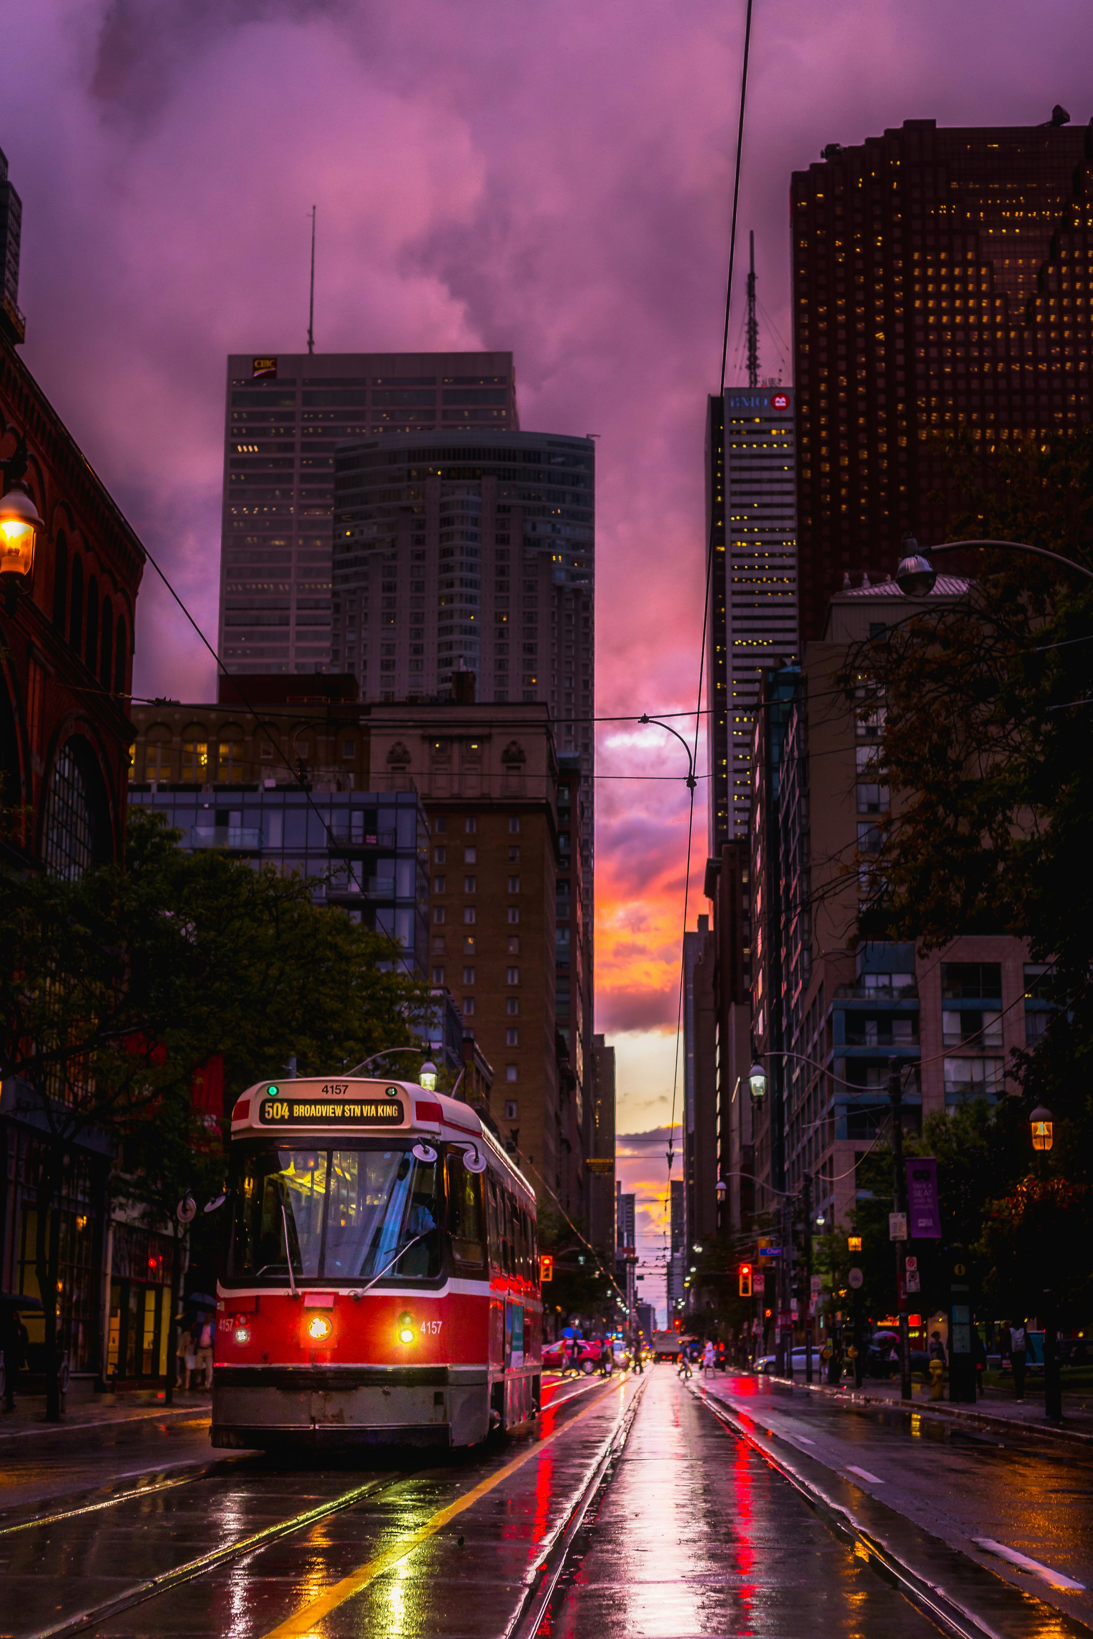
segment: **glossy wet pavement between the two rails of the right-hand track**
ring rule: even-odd
[[[551,1639],[937,1632],[665,1367],[556,1605]]]

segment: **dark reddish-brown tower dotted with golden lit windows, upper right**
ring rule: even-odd
[[[801,641],[844,575],[946,538],[947,451],[1090,420],[1093,126],[824,149],[791,187]]]

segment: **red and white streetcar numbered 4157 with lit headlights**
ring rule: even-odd
[[[259,1082],[231,1113],[213,1446],[474,1446],[539,1410],[536,1198],[411,1082]]]

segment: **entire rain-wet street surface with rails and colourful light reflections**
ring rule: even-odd
[[[734,1403],[736,1431],[703,1387]],[[308,1467],[261,1454],[216,1462],[200,1444],[203,1467],[151,1475],[139,1495],[118,1478],[138,1465],[133,1452],[166,1465],[197,1428],[175,1434],[154,1419],[110,1439],[74,1429],[66,1496],[56,1455],[13,1455],[8,1442],[3,1495],[18,1503],[0,1518],[0,1639],[926,1639],[934,1623],[877,1572],[882,1542],[906,1564],[924,1555],[934,1585],[977,1613],[946,1631],[1088,1634],[1032,1598],[1088,1595],[1037,1580],[1011,1528],[1032,1516],[1021,1541],[1036,1541],[1034,1562],[1054,1531],[1057,1569],[1064,1547],[1067,1564],[1085,1564],[1093,1459],[965,1447],[900,1418],[885,1426],[818,1396],[778,1398],[754,1378],[703,1387],[670,1367],[644,1380],[547,1378],[534,1429],[465,1452],[357,1452]],[[775,1424],[780,1442],[767,1432]],[[775,1446],[816,1506],[764,1455]],[[1037,1503],[1045,1478],[1073,1495]],[[901,1508],[916,1495],[934,1514],[973,1518],[975,1534],[1013,1546],[1013,1559],[995,1554],[988,1573],[986,1550],[975,1564],[880,1501]],[[839,1508],[864,1536],[839,1526]]]

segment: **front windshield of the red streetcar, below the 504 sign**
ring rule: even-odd
[[[429,1280],[441,1272],[439,1167],[408,1149],[261,1147],[233,1165],[228,1277]]]

